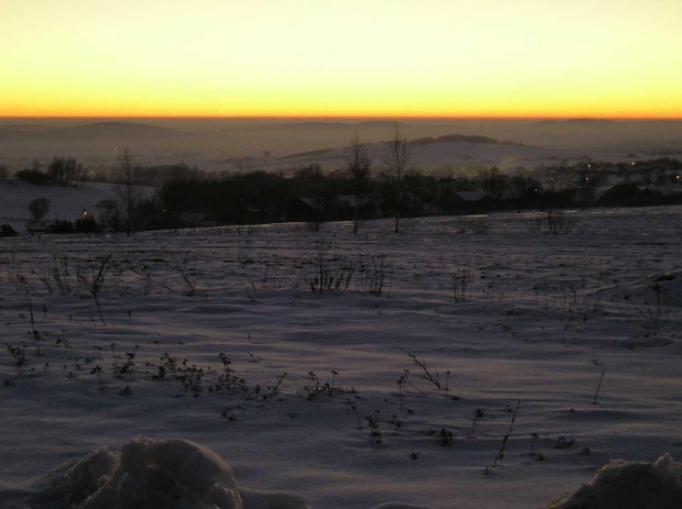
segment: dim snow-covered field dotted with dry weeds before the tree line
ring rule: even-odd
[[[570,214],[1,240],[0,500],[138,435],[326,509],[540,508],[679,460],[682,208]]]

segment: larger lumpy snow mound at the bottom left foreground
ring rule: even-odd
[[[300,495],[240,489],[220,456],[180,439],[133,439],[121,454],[100,447],[34,483],[26,494],[32,509],[312,508]]]

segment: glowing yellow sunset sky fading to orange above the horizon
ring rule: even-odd
[[[680,0],[0,0],[0,117],[682,118]]]

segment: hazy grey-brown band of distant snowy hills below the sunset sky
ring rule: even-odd
[[[19,170],[35,159],[45,163],[69,155],[89,168],[106,168],[113,164],[113,148],[127,146],[145,165],[184,161],[209,171],[288,169],[301,162],[296,159],[333,156],[319,151],[348,146],[355,134],[365,143],[381,143],[389,137],[393,124],[386,119],[339,118],[0,118],[0,164]],[[535,167],[566,157],[565,151],[568,157],[601,161],[619,161],[644,151],[682,152],[682,121],[403,119],[400,129],[409,140],[422,139],[419,157],[425,166],[504,163]],[[444,135],[452,137],[448,142]],[[292,156],[278,159],[287,155]],[[329,165],[338,167],[338,163]]]

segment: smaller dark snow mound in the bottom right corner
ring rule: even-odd
[[[664,454],[656,463],[613,461],[551,509],[679,509],[682,464]]]

